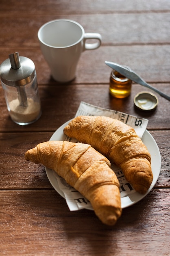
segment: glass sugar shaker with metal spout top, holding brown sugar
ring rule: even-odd
[[[0,80],[11,119],[19,125],[28,125],[41,116],[35,65],[18,52],[0,65]]]

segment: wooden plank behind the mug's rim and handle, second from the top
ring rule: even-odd
[[[39,47],[37,32],[45,22],[65,18],[58,14],[47,16],[29,15],[1,16],[1,47]],[[85,32],[98,32],[103,45],[145,45],[168,44],[167,33],[170,12],[160,13],[111,13],[111,14],[69,14],[66,18],[79,22]],[[93,24],[93,26],[92,26]]]

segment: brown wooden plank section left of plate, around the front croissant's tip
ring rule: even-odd
[[[0,188],[52,188],[43,165],[24,159],[25,152],[38,143],[48,141],[52,133],[1,133],[0,134]]]

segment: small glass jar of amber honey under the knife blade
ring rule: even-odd
[[[126,98],[131,93],[132,81],[125,76],[122,76],[116,70],[112,70],[110,76],[109,92],[113,97],[122,99]]]

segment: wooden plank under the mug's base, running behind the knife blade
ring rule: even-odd
[[[51,78],[50,69],[39,48],[3,47],[0,63],[9,58],[9,54],[16,51],[20,56],[26,56],[33,60],[39,84],[57,84]],[[102,46],[94,51],[82,53],[77,66],[76,79],[72,81],[72,84],[109,84],[111,68],[105,65],[105,61],[113,61],[131,67],[148,83],[170,83],[169,56],[170,45]],[[145,90],[145,88],[141,87],[141,90]]]

